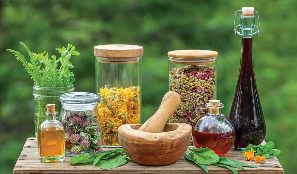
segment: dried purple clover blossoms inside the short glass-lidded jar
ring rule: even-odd
[[[100,128],[93,111],[64,111],[65,150],[69,154],[101,150]]]

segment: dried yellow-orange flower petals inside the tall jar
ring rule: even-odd
[[[120,146],[118,127],[140,122],[140,87],[100,88],[98,115],[102,144]]]

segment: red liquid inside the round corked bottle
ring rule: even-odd
[[[204,133],[194,130],[193,143],[196,148],[208,147],[217,155],[223,156],[232,149],[235,137],[235,130],[225,133]]]

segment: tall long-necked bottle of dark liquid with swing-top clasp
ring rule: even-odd
[[[234,147],[244,149],[249,143],[263,142],[266,126],[257,91],[253,65],[253,35],[255,16],[242,14],[239,20],[241,36],[241,63],[238,82],[229,119],[236,129]]]

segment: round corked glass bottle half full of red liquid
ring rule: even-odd
[[[219,156],[225,155],[234,145],[235,127],[228,117],[221,114],[220,100],[206,103],[208,114],[200,117],[193,126],[192,140],[196,148],[208,147]]]

